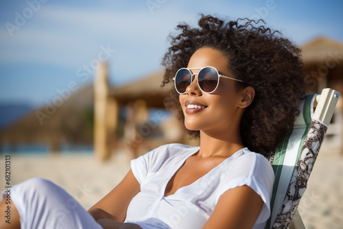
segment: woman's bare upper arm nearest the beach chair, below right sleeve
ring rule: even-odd
[[[261,197],[249,186],[239,186],[221,195],[203,229],[252,228],[263,206]]]

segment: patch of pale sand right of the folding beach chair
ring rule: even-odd
[[[298,211],[307,229],[343,228],[343,156],[320,152]]]

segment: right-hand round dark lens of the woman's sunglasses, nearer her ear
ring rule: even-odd
[[[219,75],[212,67],[201,69],[198,75],[198,84],[205,93],[213,93],[217,88]]]

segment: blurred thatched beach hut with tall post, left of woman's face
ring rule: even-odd
[[[172,85],[161,87],[164,71],[156,71],[123,86],[109,86],[106,63],[95,75],[95,154],[106,160],[124,147],[132,158],[163,143],[191,143],[180,123],[166,115],[163,100]],[[151,117],[150,110],[161,109]],[[120,119],[125,113],[125,120]],[[162,123],[161,123],[162,122]]]

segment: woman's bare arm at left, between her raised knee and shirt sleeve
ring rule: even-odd
[[[114,219],[123,222],[126,218],[128,205],[139,191],[141,191],[141,186],[130,170],[115,189],[89,208],[88,213],[95,220]]]

